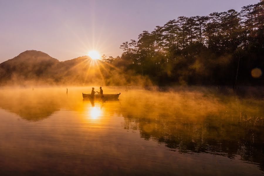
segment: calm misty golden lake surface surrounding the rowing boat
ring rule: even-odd
[[[263,99],[214,89],[0,91],[0,175],[263,175]],[[99,88],[96,87],[96,91]]]

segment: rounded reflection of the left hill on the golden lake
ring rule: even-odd
[[[55,92],[31,91],[31,89],[3,89],[0,93],[0,108],[17,114],[28,121],[48,118],[61,108]]]

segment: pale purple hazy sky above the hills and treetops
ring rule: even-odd
[[[0,63],[25,50],[63,61],[89,50],[116,57],[119,46],[178,16],[241,10],[259,0],[0,0]]]

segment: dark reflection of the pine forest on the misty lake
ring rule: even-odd
[[[241,160],[259,163],[264,169],[263,100],[207,98],[197,92],[163,97],[154,98],[154,103],[148,96],[126,101],[121,109],[123,128],[138,130],[141,138],[180,153],[211,153],[230,159],[240,155]]]

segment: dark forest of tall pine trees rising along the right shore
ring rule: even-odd
[[[263,85],[264,1],[208,16],[180,16],[103,60],[158,85]]]

